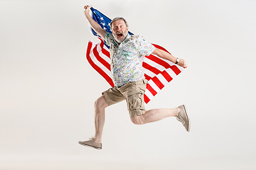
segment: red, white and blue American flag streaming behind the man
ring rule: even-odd
[[[100,11],[97,11],[95,8],[90,8],[90,16],[100,24],[102,29],[112,33],[110,29],[111,19],[105,16]],[[110,70],[110,47],[105,43],[102,38],[100,38],[95,31],[90,28],[92,35],[95,35],[100,39],[100,43],[88,42],[86,57],[91,66],[98,72],[102,77],[104,77],[110,86],[114,86],[112,81],[112,74]],[[132,34],[129,32],[129,34]],[[164,47],[159,45],[154,45],[161,50],[164,50]],[[146,85],[146,91],[144,93],[145,103],[149,103],[151,98],[156,96],[156,94],[166,86],[174,77],[181,73],[184,69],[183,67],[170,62],[169,60],[164,60],[156,55],[149,55],[144,57],[144,62],[142,63],[144,77],[149,83]]]

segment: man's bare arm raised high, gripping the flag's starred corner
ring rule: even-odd
[[[98,23],[96,23],[96,22],[92,19],[92,17],[90,16],[90,14],[89,14],[91,7],[92,7],[92,6],[85,6],[85,11],[84,11],[85,17],[87,18],[88,23],[90,23],[90,26],[92,27],[92,29],[95,30],[95,32],[96,32],[98,35],[100,35],[101,38],[103,38],[103,39],[105,40],[105,33],[106,33],[106,31],[103,30],[103,29],[101,28],[101,26],[100,26]]]

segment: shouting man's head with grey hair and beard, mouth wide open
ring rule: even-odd
[[[118,43],[121,43],[128,34],[128,28],[122,19],[112,23],[112,35]]]

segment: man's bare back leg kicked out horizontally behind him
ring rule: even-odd
[[[177,116],[180,112],[179,108],[159,108],[146,111],[144,115],[139,115],[131,118],[132,123],[136,125],[143,125],[145,123],[156,122],[171,116]]]

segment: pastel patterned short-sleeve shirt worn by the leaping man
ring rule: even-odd
[[[144,56],[149,56],[155,50],[151,43],[140,35],[127,35],[119,45],[111,33],[105,34],[105,41],[110,46],[111,72],[114,85],[117,87],[129,81],[144,78],[142,62]]]

